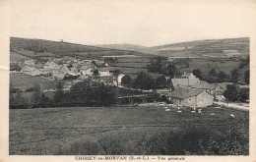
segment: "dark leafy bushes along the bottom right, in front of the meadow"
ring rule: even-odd
[[[106,135],[98,140],[73,142],[56,154],[72,155],[248,155],[248,119],[232,119],[229,129],[218,134],[212,129],[185,126],[180,130],[130,138]],[[230,134],[229,134],[230,133]]]

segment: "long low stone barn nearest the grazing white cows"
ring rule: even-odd
[[[205,107],[214,103],[214,96],[209,92],[191,87],[179,87],[168,96],[173,104],[187,107]]]

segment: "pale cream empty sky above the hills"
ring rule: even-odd
[[[249,37],[256,15],[249,0],[10,0],[9,6],[11,36],[86,45]]]

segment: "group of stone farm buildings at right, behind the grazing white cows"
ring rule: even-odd
[[[173,104],[187,107],[206,107],[214,100],[224,100],[226,85],[231,82],[208,83],[200,81],[192,73],[170,80],[169,91],[162,91]]]

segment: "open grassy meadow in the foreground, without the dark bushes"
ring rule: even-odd
[[[214,107],[204,108],[202,115],[191,114],[187,109],[178,115],[175,108],[164,112],[160,107],[10,109],[10,154],[61,154],[61,150],[85,140],[103,141],[106,145],[108,142],[108,146],[126,143],[135,151],[139,139],[188,127],[205,127],[222,135],[228,133],[230,113],[237,120],[248,118],[248,112]],[[248,134],[248,123],[245,125],[243,129]],[[115,142],[111,143],[111,138]],[[112,153],[122,150],[116,151]],[[138,154],[132,150],[126,153]]]

